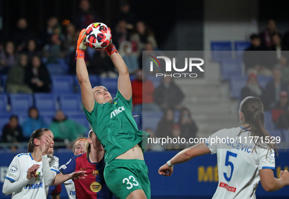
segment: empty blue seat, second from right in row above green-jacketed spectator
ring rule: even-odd
[[[35,93],[34,100],[39,111],[56,111],[57,95],[53,93]]]

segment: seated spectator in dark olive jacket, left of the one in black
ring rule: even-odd
[[[9,93],[32,93],[32,89],[24,82],[25,71],[28,65],[27,55],[21,54],[15,66],[8,72],[6,90]]]

